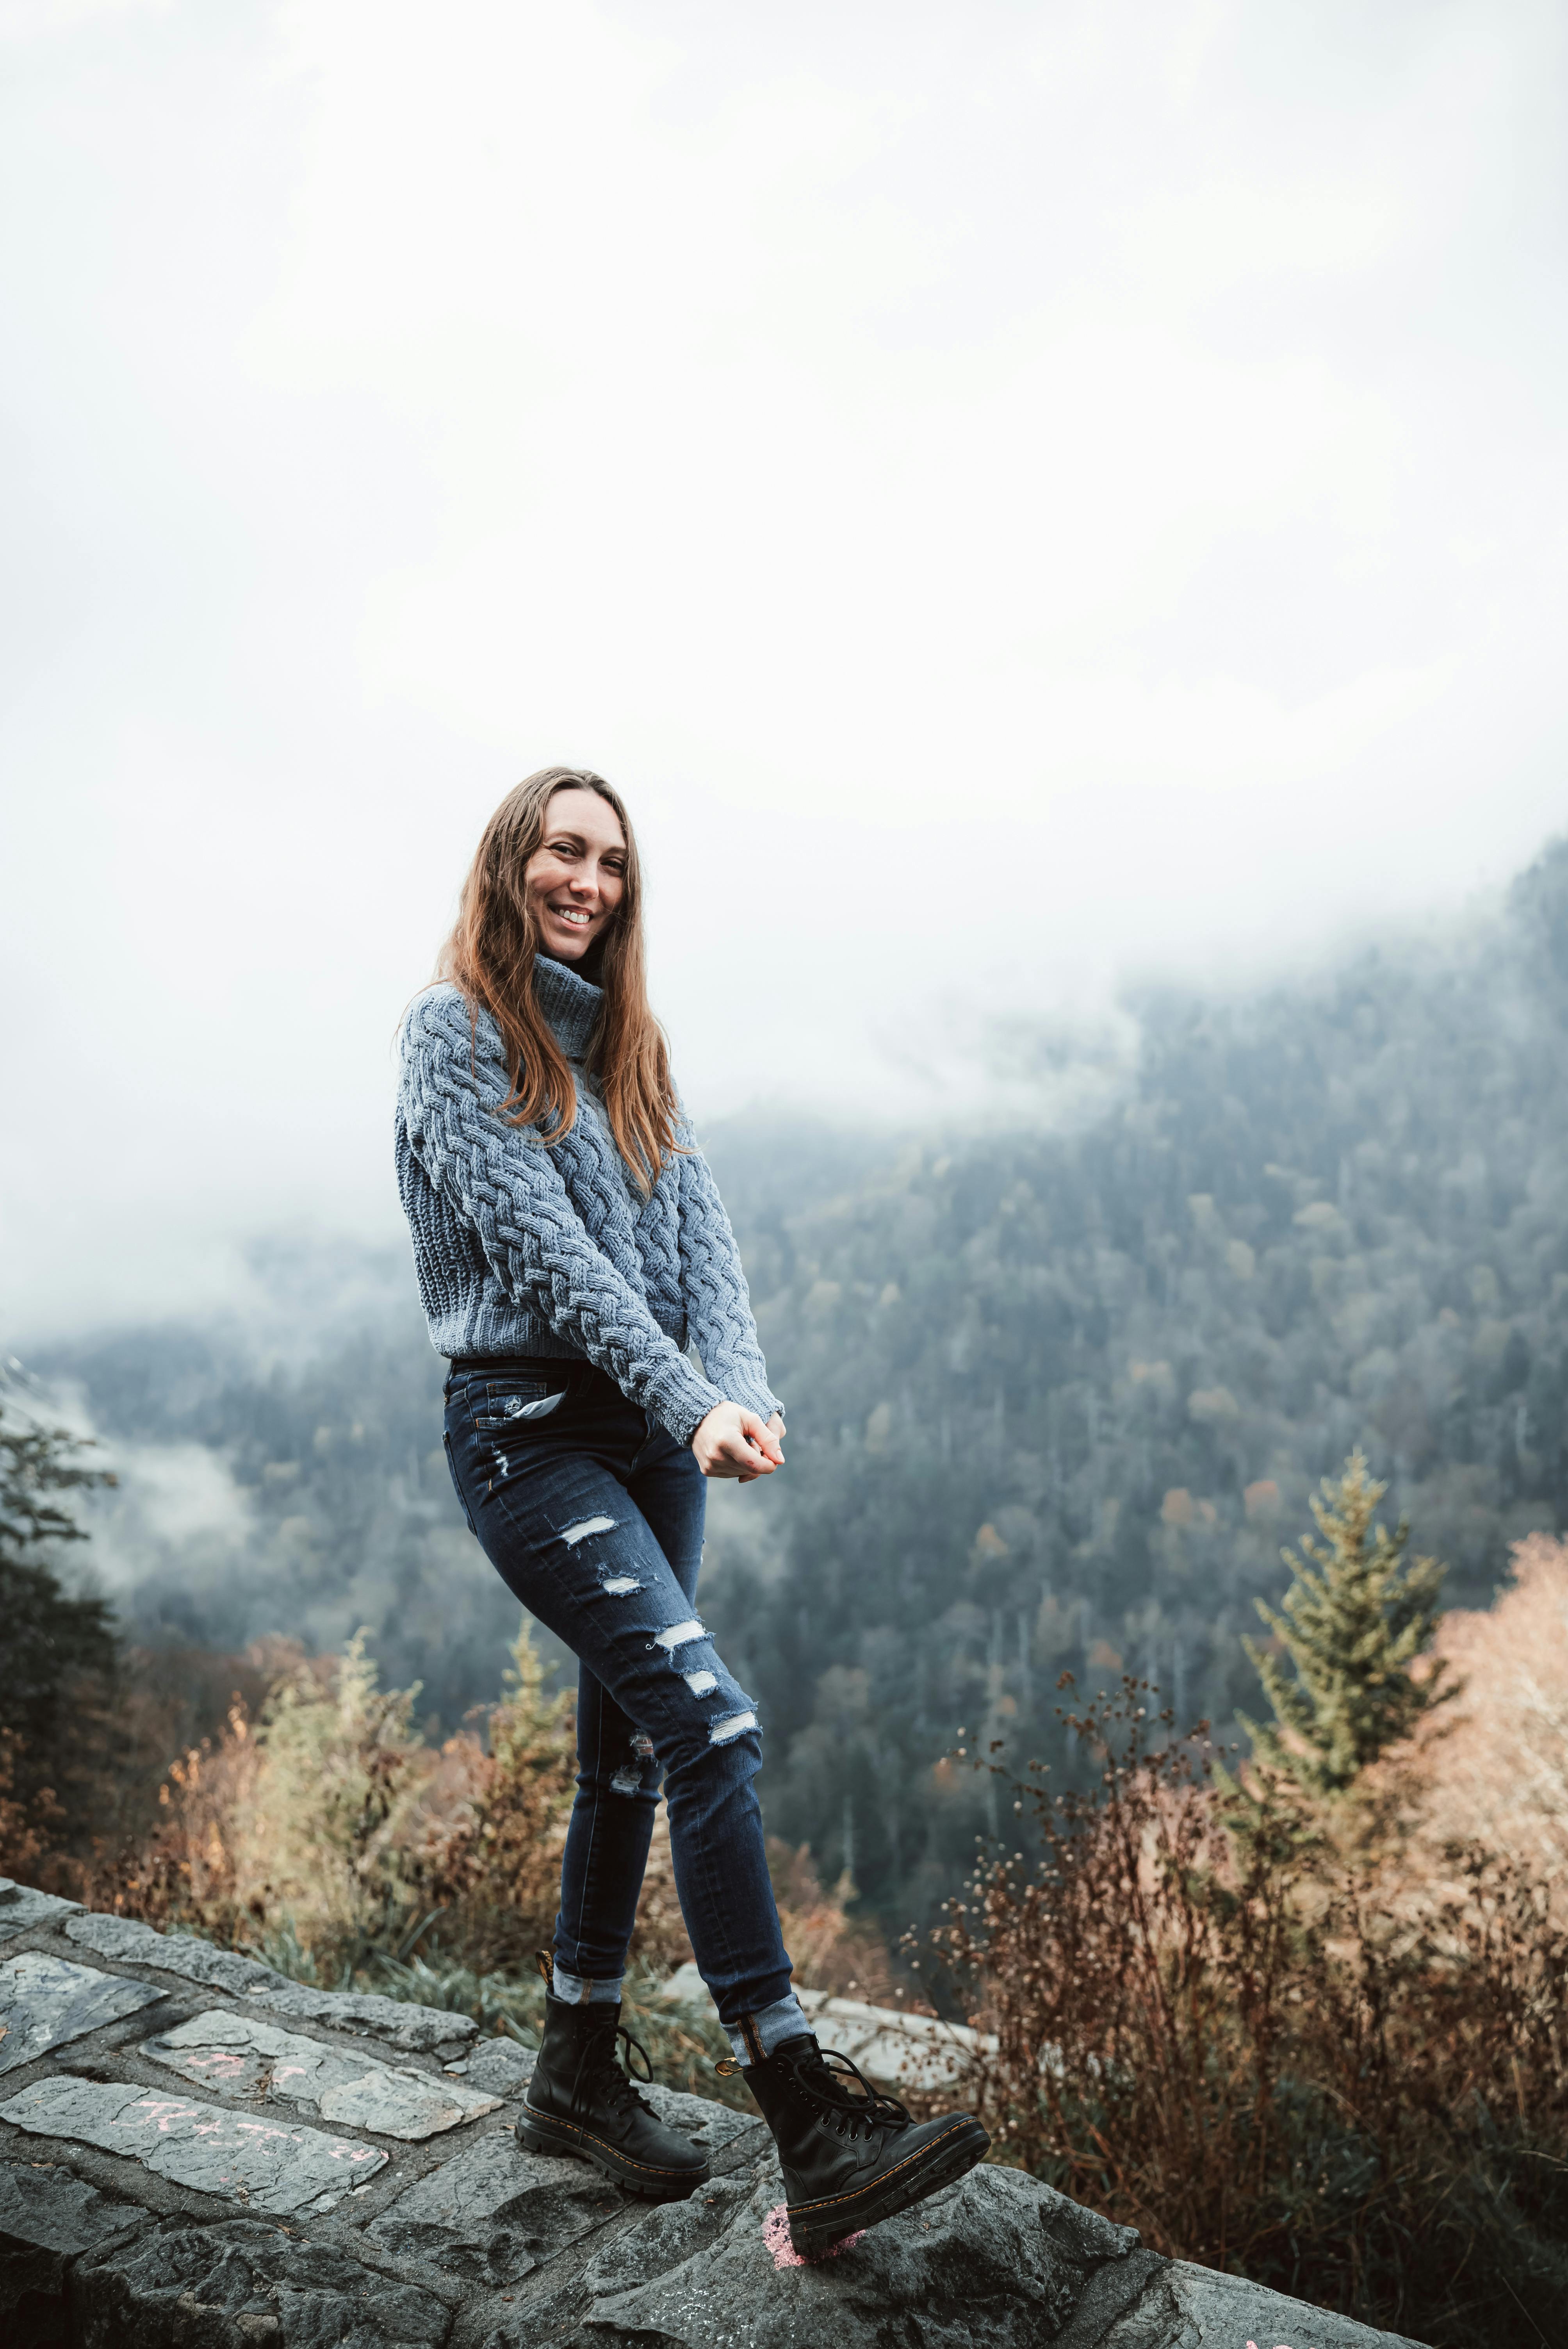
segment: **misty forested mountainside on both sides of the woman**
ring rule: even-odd
[[[789,1475],[716,1496],[704,1607],[765,1708],[770,1828],[892,1924],[1012,1813],[934,1771],[960,1722],[1070,1773],[1063,1670],[1258,1710],[1253,1595],[1354,1445],[1453,1604],[1568,1517],[1568,846],[1451,949],[1131,1008],[1122,1099],[1073,1137],[714,1139]],[[136,1630],[366,1621],[453,1724],[495,1696],[512,1609],[451,1501],[401,1259],[387,1297],[361,1285],[307,1367],[244,1332],[35,1367],[110,1440],[216,1447],[244,1489],[237,1536],[134,1520],[134,1478],[106,1503]]]

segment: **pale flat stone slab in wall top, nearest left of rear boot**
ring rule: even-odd
[[[300,2039],[277,2022],[235,2015],[223,2006],[190,2015],[157,2039],[143,2039],[141,2053],[169,2065],[188,2088],[221,2088],[265,2105],[307,2105],[324,2121],[406,2142],[477,2121],[500,2105],[498,2095],[486,2095],[465,2079],[387,2065],[324,2039]]]

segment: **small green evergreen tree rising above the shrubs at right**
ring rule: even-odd
[[[1441,1618],[1446,1569],[1437,1557],[1404,1555],[1408,1520],[1392,1534],[1373,1525],[1385,1492],[1361,1452],[1350,1454],[1338,1485],[1324,1478],[1312,1501],[1322,1541],[1307,1536],[1300,1557],[1282,1550],[1296,1581],[1279,1609],[1253,1602],[1284,1654],[1242,1640],[1275,1710],[1268,1727],[1239,1715],[1253,1755],[1312,1795],[1343,1795],[1368,1762],[1458,1694],[1444,1663],[1420,1680],[1411,1670]]]

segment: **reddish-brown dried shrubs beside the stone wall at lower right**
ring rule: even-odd
[[[1568,1936],[1498,1856],[1390,1900],[1366,1818],[1211,1783],[1150,1689],[1068,1715],[1099,1783],[1014,1783],[932,1938],[995,2034],[969,2095],[1005,2159],[1150,2243],[1439,2344],[1568,2304]],[[1408,1886],[1406,1886],[1408,1891]],[[927,1961],[930,1968],[930,1961]],[[1507,2311],[1507,2321],[1500,2311]],[[1542,2340],[1556,2335],[1542,2330]]]

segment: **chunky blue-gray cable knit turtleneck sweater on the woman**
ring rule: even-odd
[[[577,1081],[577,1123],[545,1149],[498,1116],[500,1029],[430,987],[401,1031],[397,1186],[437,1353],[599,1362],[678,1442],[716,1402],[782,1409],[718,1186],[690,1128],[653,1193],[629,1179],[582,1064],[603,996],[566,963],[533,965],[535,1001]],[[685,1348],[697,1346],[702,1372]],[[707,1372],[707,1377],[704,1377]]]

